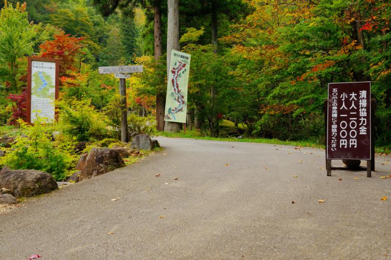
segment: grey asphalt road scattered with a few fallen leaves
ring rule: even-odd
[[[322,149],[158,140],[164,152],[1,215],[0,259],[391,258],[390,156],[373,178],[326,177]]]

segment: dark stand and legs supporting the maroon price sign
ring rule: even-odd
[[[365,171],[367,170],[367,177],[370,178],[372,177],[371,171],[375,170],[375,131],[374,131],[374,118],[375,118],[375,109],[376,109],[376,101],[375,99],[370,100],[370,105],[371,105],[371,160],[366,160],[367,161],[367,167],[358,167],[355,169],[351,169],[348,167],[331,167],[331,160],[332,159],[327,159],[327,136],[325,134],[325,143],[326,143],[326,170],[327,170],[327,176],[331,176],[331,170],[342,170],[342,171]],[[325,130],[327,133],[327,100],[325,100]]]

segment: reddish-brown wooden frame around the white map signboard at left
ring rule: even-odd
[[[49,59],[49,58],[35,58],[35,57],[27,57],[27,122],[31,123],[31,72],[32,72],[32,63],[33,62],[53,62],[55,63],[55,93],[54,93],[54,100],[58,99],[59,96],[59,75],[60,75],[60,60],[56,59]],[[54,108],[54,119],[57,120],[58,117],[58,111],[56,107]]]

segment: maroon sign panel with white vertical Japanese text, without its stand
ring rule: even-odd
[[[370,82],[329,83],[327,159],[371,159]]]

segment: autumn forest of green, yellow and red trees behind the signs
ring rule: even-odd
[[[118,80],[98,66],[142,64],[127,80],[130,138],[156,117],[163,130],[166,1],[16,2],[0,4],[0,124],[25,119],[25,57],[37,56],[60,59],[58,124],[72,139],[119,138]],[[327,84],[372,81],[376,145],[390,149],[390,14],[388,0],[180,0],[188,126],[221,137],[230,120],[244,137],[323,144]]]

